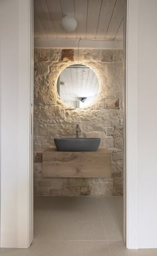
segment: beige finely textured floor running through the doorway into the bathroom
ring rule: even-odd
[[[122,197],[37,197],[29,249],[8,256],[157,256],[157,249],[128,250],[122,241]]]

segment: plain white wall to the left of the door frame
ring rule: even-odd
[[[3,0],[0,10],[1,245],[5,246],[8,243],[13,246],[17,244],[15,233],[17,233],[18,1]]]

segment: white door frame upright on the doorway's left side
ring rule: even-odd
[[[33,241],[33,87],[34,87],[34,18],[33,1],[19,2],[19,179],[18,247]],[[27,10],[27,11],[26,11]],[[25,25],[24,25],[25,24]],[[25,36],[24,36],[25,34]],[[25,73],[24,73],[25,71]],[[24,147],[21,147],[24,145]],[[22,150],[23,149],[23,150]],[[23,178],[27,179],[23,189]],[[26,186],[27,185],[27,186]],[[23,193],[21,193],[23,191]],[[27,205],[23,203],[27,200]],[[24,213],[23,211],[26,211]],[[22,216],[22,217],[21,217]],[[27,221],[27,230],[24,225]],[[23,239],[25,235],[25,240]]]

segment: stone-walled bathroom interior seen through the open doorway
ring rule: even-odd
[[[124,240],[124,0],[35,0],[34,19],[33,243],[102,255]]]

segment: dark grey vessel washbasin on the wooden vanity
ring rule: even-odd
[[[65,138],[54,139],[59,151],[96,151],[100,138]]]

